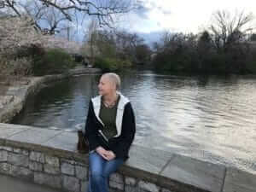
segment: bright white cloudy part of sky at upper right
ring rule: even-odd
[[[131,32],[201,32],[216,10],[256,16],[255,0],[141,0],[143,7],[125,16],[124,27]]]

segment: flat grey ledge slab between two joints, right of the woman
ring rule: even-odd
[[[193,188],[218,192],[223,185],[224,172],[224,166],[175,154],[160,175],[178,183],[186,183],[187,187],[190,185]],[[167,187],[168,182],[165,182],[165,179],[162,182],[166,183]]]

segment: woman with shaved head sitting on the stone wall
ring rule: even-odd
[[[85,125],[89,141],[88,192],[108,192],[108,180],[125,160],[136,125],[131,102],[119,93],[120,79],[105,73],[98,84],[99,95],[90,100]]]

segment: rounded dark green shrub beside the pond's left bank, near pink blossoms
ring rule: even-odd
[[[71,55],[62,49],[47,49],[43,55],[36,55],[32,61],[32,73],[44,75],[63,73],[75,66]]]

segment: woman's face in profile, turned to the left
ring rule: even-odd
[[[99,95],[107,96],[115,91],[115,85],[111,82],[108,76],[103,75],[98,84],[98,89]]]

